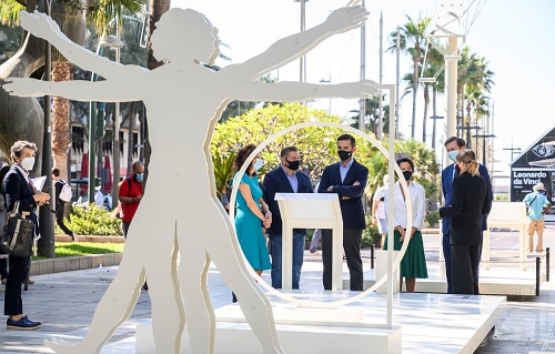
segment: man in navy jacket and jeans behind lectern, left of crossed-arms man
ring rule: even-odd
[[[282,220],[275,193],[313,193],[311,180],[299,171],[301,156],[295,146],[284,148],[280,166],[264,176],[264,201],[272,212],[272,225],[268,229],[272,254],[272,286],[282,287]],[[306,229],[293,230],[293,289],[299,289],[304,256]]]

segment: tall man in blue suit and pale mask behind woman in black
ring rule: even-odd
[[[466,149],[466,142],[464,139],[451,136],[445,140],[445,149],[447,150],[447,158],[455,162],[456,154],[460,150]],[[453,179],[458,174],[458,168],[455,166],[455,163],[450,164],[442,171],[442,192],[443,192],[443,205],[450,206],[453,198]],[[492,190],[492,181],[490,180],[490,173],[487,173],[487,168],[483,164],[480,164],[478,168],[480,175],[484,176],[487,184],[487,194],[490,203],[493,200],[493,190]],[[487,214],[482,215],[482,231],[487,230]],[[451,282],[451,218],[443,218],[443,256],[445,259],[445,274],[447,275],[447,294],[453,293],[453,286]],[[480,249],[482,253],[482,247]]]

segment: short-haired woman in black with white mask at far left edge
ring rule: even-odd
[[[11,146],[11,159],[14,164],[6,174],[2,188],[8,213],[12,212],[16,202],[19,202],[19,210],[29,213],[29,218],[34,223],[34,234],[38,234],[39,225],[34,209],[48,203],[50,194],[37,191],[29,178],[29,171],[34,165],[36,151],[37,145],[28,141],[17,141]],[[8,330],[36,330],[40,327],[40,322],[33,322],[23,315],[23,300],[21,299],[21,282],[28,272],[29,257],[10,254],[9,263],[10,270],[4,295],[4,315],[8,315]]]

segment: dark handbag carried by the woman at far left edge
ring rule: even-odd
[[[16,202],[13,211],[6,219],[6,225],[0,235],[0,250],[19,257],[31,256],[34,224],[27,216],[20,212],[19,201]]]

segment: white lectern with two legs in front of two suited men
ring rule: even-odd
[[[293,229],[331,229],[332,290],[343,289],[343,216],[337,194],[275,193],[283,222],[282,289],[292,289]]]

